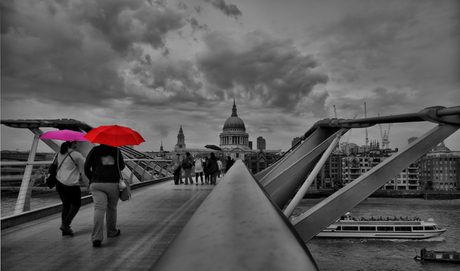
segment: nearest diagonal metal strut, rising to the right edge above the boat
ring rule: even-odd
[[[293,219],[297,232],[305,242],[310,240],[459,128],[458,125],[440,124],[431,129],[397,154]]]

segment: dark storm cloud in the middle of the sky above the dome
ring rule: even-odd
[[[223,91],[230,98],[239,95],[293,111],[317,84],[328,81],[326,74],[314,70],[319,62],[299,52],[290,40],[253,32],[237,42],[214,32],[204,42],[207,48],[198,55],[197,66],[218,96]]]

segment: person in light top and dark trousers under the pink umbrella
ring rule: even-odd
[[[77,151],[78,142],[66,141],[61,144],[57,155],[57,164],[60,165],[56,174],[58,182],[56,190],[62,201],[61,227],[62,235],[73,236],[70,224],[81,207],[80,178],[83,185],[88,186],[85,176],[85,158]]]

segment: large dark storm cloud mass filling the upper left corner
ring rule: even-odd
[[[143,54],[140,45],[167,52],[165,35],[186,23],[161,2],[151,4],[2,1],[2,100],[130,99],[121,65]]]

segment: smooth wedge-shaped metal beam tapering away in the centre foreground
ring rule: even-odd
[[[318,270],[305,244],[237,161],[150,270]]]

